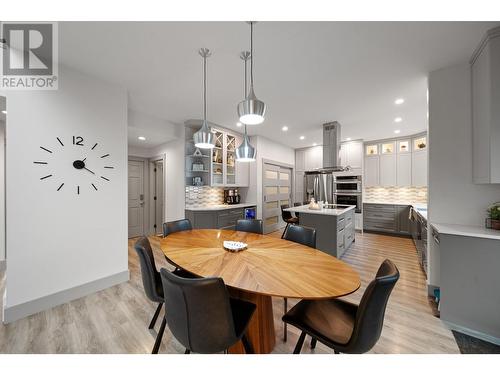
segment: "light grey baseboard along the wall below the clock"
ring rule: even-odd
[[[4,323],[11,323],[18,319],[33,315],[37,312],[50,309],[75,299],[85,297],[89,294],[107,289],[117,284],[127,282],[129,280],[129,271],[123,271],[111,276],[103,277],[89,283],[76,286],[74,288],[62,290],[60,292],[50,294],[45,297],[35,300],[20,303],[14,306],[5,306],[3,310],[2,320]]]

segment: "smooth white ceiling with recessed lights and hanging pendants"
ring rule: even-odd
[[[249,133],[304,147],[321,143],[322,123],[333,120],[342,124],[344,139],[425,130],[428,72],[467,61],[483,33],[497,24],[259,22],[255,91],[268,112],[264,124]],[[208,119],[238,129],[239,53],[249,49],[246,23],[65,22],[59,38],[61,62],[126,87],[131,110],[173,123],[202,114],[197,50],[210,48]],[[401,106],[394,105],[398,97],[406,100]],[[403,122],[395,124],[398,116]],[[144,125],[144,131],[153,136],[161,129]],[[134,138],[138,132],[129,134]]]

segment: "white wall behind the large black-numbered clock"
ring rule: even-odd
[[[59,296],[53,301],[61,303],[63,294],[65,299],[75,296],[58,292],[78,287],[91,292],[82,285],[128,279],[127,94],[60,67],[59,90],[4,95],[9,105],[4,320],[9,320],[21,310],[30,313],[30,303],[33,309],[42,306],[40,299],[49,295]],[[73,135],[82,136],[85,146],[72,145]],[[106,153],[108,158],[100,158]],[[84,157],[89,169],[106,173],[110,181],[73,168],[72,161]],[[35,165],[35,160],[49,164]],[[41,181],[45,174],[53,177]],[[62,182],[64,187],[56,191]]]

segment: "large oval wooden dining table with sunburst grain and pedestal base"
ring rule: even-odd
[[[229,252],[224,241],[241,241],[246,250]],[[234,298],[257,308],[248,326],[256,353],[270,353],[275,345],[271,297],[326,299],[355,292],[358,273],[322,251],[268,235],[219,229],[172,233],[160,242],[167,259],[201,277],[221,277]],[[241,343],[229,350],[244,353]]]

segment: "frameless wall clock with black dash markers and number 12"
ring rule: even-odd
[[[71,189],[80,195],[98,191],[100,185],[111,181],[111,155],[99,143],[87,143],[81,136],[56,137],[52,145],[40,146],[40,155],[33,162],[43,168],[40,181],[55,181],[56,191]]]

